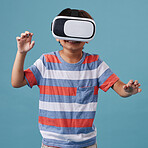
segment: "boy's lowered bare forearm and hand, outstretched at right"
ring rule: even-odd
[[[121,97],[129,97],[142,91],[140,84],[137,80],[130,80],[127,84],[124,84],[121,80],[118,80],[113,86],[113,90]]]

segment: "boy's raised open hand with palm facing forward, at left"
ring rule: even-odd
[[[21,37],[16,37],[17,40],[17,47],[20,53],[27,53],[31,50],[35,44],[35,41],[31,42],[33,33],[29,31],[25,31],[25,33],[21,34]]]

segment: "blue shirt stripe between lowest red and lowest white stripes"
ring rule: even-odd
[[[40,123],[39,123],[39,129],[42,131],[53,132],[58,134],[88,134],[94,131],[92,127],[86,127],[86,128],[56,127],[56,126],[43,125]]]

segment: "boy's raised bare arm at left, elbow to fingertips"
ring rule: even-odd
[[[11,84],[13,87],[22,87],[27,84],[24,77],[24,61],[26,54],[34,46],[34,41],[31,42],[33,33],[26,31],[21,34],[21,37],[17,37],[18,51],[16,54],[15,62],[12,69]]]

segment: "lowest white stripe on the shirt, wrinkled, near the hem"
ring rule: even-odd
[[[73,141],[73,142],[82,142],[89,140],[96,136],[96,130],[88,134],[57,134],[53,132],[47,132],[40,130],[43,138],[54,139],[61,141]]]

